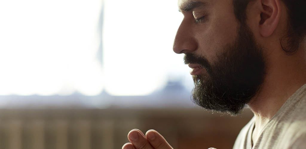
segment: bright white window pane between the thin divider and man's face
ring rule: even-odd
[[[120,5],[118,5],[120,4]],[[177,73],[172,51],[182,15],[176,1],[106,0],[103,30],[105,89],[114,96],[148,95]]]

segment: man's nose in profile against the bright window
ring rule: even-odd
[[[195,51],[198,48],[198,44],[193,35],[192,24],[188,24],[187,21],[183,20],[174,39],[173,51],[177,54]]]

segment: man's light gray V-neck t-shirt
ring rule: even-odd
[[[233,149],[306,149],[306,84],[264,126],[252,147],[254,125],[255,117],[240,131]]]

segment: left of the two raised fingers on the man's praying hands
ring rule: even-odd
[[[128,139],[136,149],[154,149],[138,129],[131,130],[128,134]]]

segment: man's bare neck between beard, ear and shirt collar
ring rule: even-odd
[[[256,118],[254,132],[260,132],[287,99],[306,84],[304,49],[290,56],[285,53],[271,54],[274,56],[267,60],[263,85],[248,104]]]

